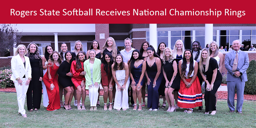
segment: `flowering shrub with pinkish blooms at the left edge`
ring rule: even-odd
[[[0,88],[6,88],[7,86],[14,86],[12,80],[10,80],[12,76],[11,69],[4,69],[0,71]]]

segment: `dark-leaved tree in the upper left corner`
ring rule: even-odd
[[[11,24],[0,24],[0,56],[5,56],[21,43],[22,36],[17,33],[18,30]]]

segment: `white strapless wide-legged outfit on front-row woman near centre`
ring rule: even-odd
[[[125,81],[125,70],[116,70],[116,79],[119,83],[119,85],[122,87]],[[117,90],[117,84],[116,84],[116,97],[115,97],[115,104],[114,109],[128,109],[128,88],[130,85],[130,77],[128,77],[125,90],[124,91],[118,91]]]

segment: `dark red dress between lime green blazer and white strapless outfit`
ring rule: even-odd
[[[108,86],[112,77],[112,73],[108,68],[108,75],[107,75],[106,71],[104,70],[104,64],[101,64],[100,68],[101,68],[101,85]],[[115,81],[113,80],[112,86],[114,85],[115,85]]]

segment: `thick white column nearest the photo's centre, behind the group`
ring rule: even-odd
[[[157,50],[157,30],[156,24],[149,24],[149,43]]]

